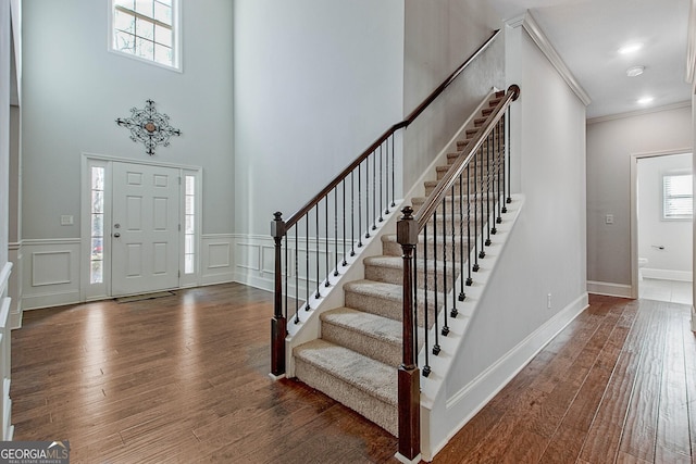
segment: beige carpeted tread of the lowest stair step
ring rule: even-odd
[[[294,353],[333,377],[385,403],[397,405],[397,367],[321,338],[300,344]]]

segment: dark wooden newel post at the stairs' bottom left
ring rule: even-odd
[[[279,377],[285,374],[285,337],[287,321],[283,315],[283,272],[281,268],[282,241],[285,237],[283,213],[274,213],[271,221],[271,236],[275,240],[275,296],[273,299],[273,318],[271,319],[271,375]]]

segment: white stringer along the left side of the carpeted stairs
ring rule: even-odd
[[[346,266],[339,266],[338,276],[334,276],[336,268],[331,269],[327,277],[330,279],[330,287],[322,289],[320,298],[315,298],[312,292],[312,296],[310,296],[309,299],[310,310],[300,310],[299,323],[295,323],[294,314],[288,314],[288,335],[285,338],[285,375],[287,377],[295,377],[295,358],[293,355],[295,347],[321,338],[321,314],[344,305],[344,285],[349,281],[364,278],[363,260],[365,258],[382,254],[382,236],[385,234],[394,234],[394,230],[396,230],[396,223],[402,215],[401,208],[406,204],[412,205],[411,199],[414,197],[425,197],[425,181],[437,178],[437,166],[447,164],[447,153],[457,151],[457,141],[465,138],[467,129],[473,127],[474,120],[478,117],[482,110],[488,105],[492,97],[498,90],[499,89],[495,87],[490,89],[478,106],[476,106],[467,121],[464,121],[437,156],[435,156],[421,177],[415,180],[411,189],[403,196],[405,199],[408,199],[408,202],[405,200],[395,200],[396,205],[394,208],[389,208],[390,213],[385,217],[385,221],[376,223],[377,229],[371,230],[372,234],[370,238],[363,238],[363,247],[356,247],[356,255],[347,256],[346,262],[348,264]],[[408,130],[408,128],[406,130]]]

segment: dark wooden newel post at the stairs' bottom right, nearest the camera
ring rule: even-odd
[[[396,229],[403,251],[403,347],[398,372],[399,387],[399,454],[413,461],[421,453],[421,374],[415,365],[413,346],[413,250],[418,243],[418,224],[413,209],[401,210],[403,216]]]

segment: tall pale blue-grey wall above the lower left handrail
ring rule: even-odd
[[[399,0],[236,0],[235,231],[269,237],[402,115]]]

